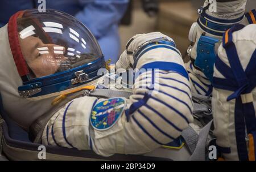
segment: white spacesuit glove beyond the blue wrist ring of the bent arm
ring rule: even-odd
[[[126,45],[126,50],[123,51],[122,55],[120,56],[119,60],[115,64],[115,68],[136,68],[138,66],[134,66],[134,59],[137,57],[134,57],[135,51],[140,48],[143,44],[145,44],[148,41],[156,40],[158,38],[165,38],[166,40],[174,42],[172,38],[164,35],[160,32],[152,32],[152,33],[146,33],[146,34],[138,34],[132,37]]]

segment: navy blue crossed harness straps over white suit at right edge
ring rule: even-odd
[[[227,98],[227,101],[236,99],[234,121],[238,157],[240,160],[249,160],[245,140],[246,132],[247,135],[252,134],[254,139],[256,138],[256,117],[251,94],[251,91],[256,87],[256,50],[254,51],[246,70],[243,71],[236,45],[234,44],[232,37],[233,32],[239,31],[244,27],[244,25],[238,24],[225,33],[225,36],[223,37],[223,47],[226,50],[230,67],[217,57],[216,69],[225,77],[225,79],[214,77],[213,87],[234,92]],[[254,147],[255,144],[256,143],[254,143]],[[256,154],[256,150],[254,150],[254,154]]]

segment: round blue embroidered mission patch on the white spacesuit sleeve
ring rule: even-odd
[[[90,123],[96,130],[108,130],[121,117],[126,102],[123,98],[110,98],[96,104],[90,115]]]

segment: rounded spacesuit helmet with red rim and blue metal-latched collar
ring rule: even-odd
[[[45,96],[100,78],[104,55],[96,38],[61,11],[20,11],[9,21],[9,41],[23,85],[20,96]]]

